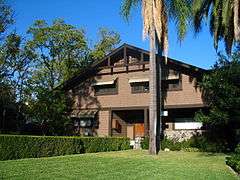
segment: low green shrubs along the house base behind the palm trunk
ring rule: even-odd
[[[141,142],[143,149],[148,149],[149,138],[145,137]],[[212,142],[205,136],[193,136],[189,140],[185,141],[174,141],[165,137],[161,140],[161,149],[170,149],[171,151],[202,151],[202,152],[224,152],[226,151],[225,146],[222,142]],[[240,152],[240,148],[239,148]]]

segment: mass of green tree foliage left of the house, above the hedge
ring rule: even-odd
[[[0,10],[1,35],[13,19],[4,0]],[[21,125],[27,120],[40,126],[42,134],[68,134],[71,102],[67,104],[64,92],[55,87],[110,52],[120,36],[102,28],[91,49],[85,32],[62,19],[50,25],[36,20],[27,33],[26,39],[15,32],[0,39],[0,130],[6,127],[6,119]]]

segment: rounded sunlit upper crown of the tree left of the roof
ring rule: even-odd
[[[83,30],[57,19],[52,25],[36,20],[28,30],[32,39],[27,45],[38,58],[38,69],[34,72],[38,83],[53,89],[59,83],[72,77],[86,61],[87,42]]]

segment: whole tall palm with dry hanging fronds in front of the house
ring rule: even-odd
[[[143,36],[150,41],[150,142],[149,153],[157,154],[160,149],[161,131],[161,62],[156,61],[156,52],[164,52],[167,62],[168,17],[178,26],[179,39],[186,34],[188,17],[191,15],[189,0],[123,0],[121,12],[129,19],[133,7],[142,6]],[[161,55],[161,54],[160,54]],[[160,82],[160,83],[159,83]]]

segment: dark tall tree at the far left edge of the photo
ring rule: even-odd
[[[7,32],[13,22],[12,8],[0,0],[0,119],[3,130],[19,127],[21,92],[29,60],[26,51],[21,51],[22,38],[15,32]]]

